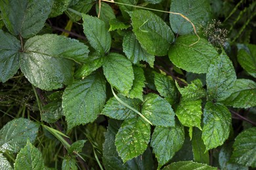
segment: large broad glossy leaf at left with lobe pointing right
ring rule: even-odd
[[[88,47],[75,39],[39,35],[26,42],[20,68],[34,86],[43,90],[58,89],[72,84],[74,61],[85,61],[88,53]]]

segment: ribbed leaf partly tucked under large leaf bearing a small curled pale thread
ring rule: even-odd
[[[123,52],[134,64],[138,64],[139,61],[146,61],[149,63],[150,67],[154,67],[155,56],[148,54],[148,52],[140,46],[134,33],[127,32],[125,37],[123,37]]]

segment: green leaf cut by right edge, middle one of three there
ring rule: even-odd
[[[249,108],[256,106],[256,83],[253,80],[238,79],[230,88],[231,95],[224,100],[224,104],[235,108]]]

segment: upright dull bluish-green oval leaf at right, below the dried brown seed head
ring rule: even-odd
[[[206,74],[208,100],[222,101],[230,96],[230,88],[236,82],[236,72],[232,61],[221,54],[211,61]]]

